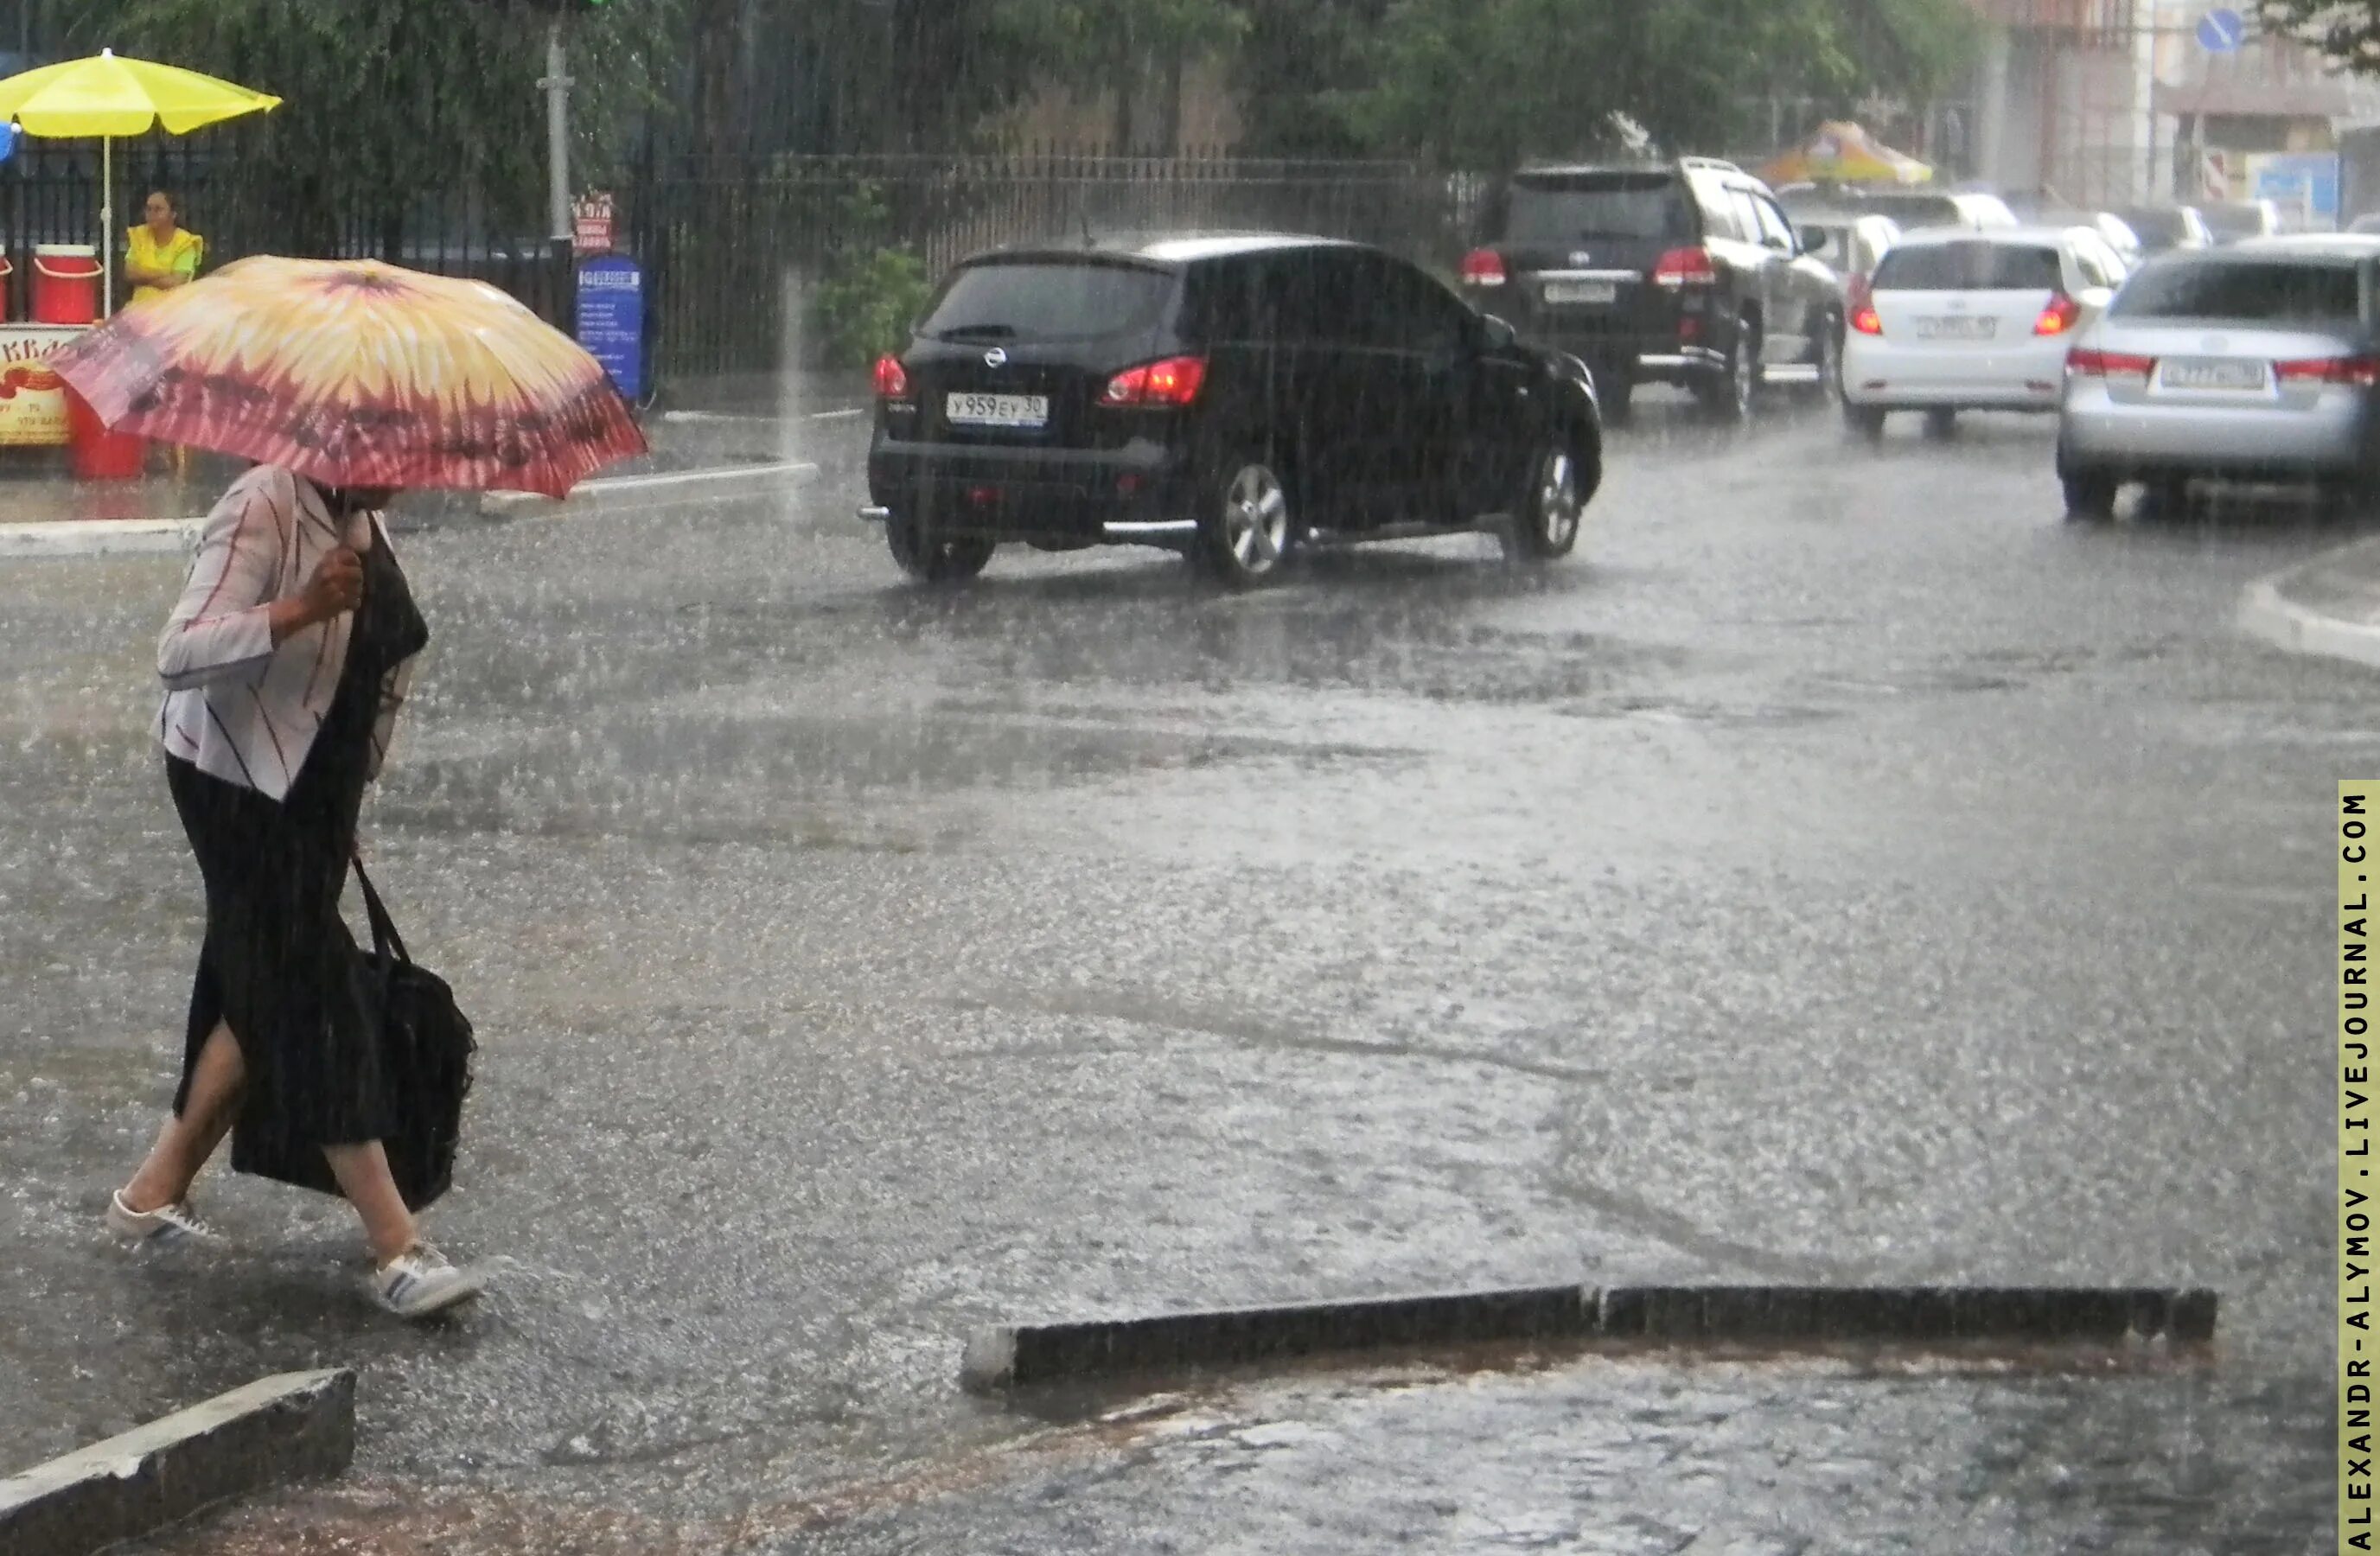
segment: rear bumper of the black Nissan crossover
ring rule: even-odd
[[[1185,464],[1157,443],[1085,452],[878,438],[859,516],[992,540],[1180,545],[1197,528],[1188,485]]]

